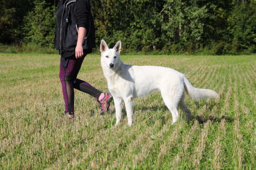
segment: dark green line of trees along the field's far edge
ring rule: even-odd
[[[59,0],[2,0],[0,42],[53,48]],[[91,0],[96,44],[125,52],[256,52],[256,0]]]

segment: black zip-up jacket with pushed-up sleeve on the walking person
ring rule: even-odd
[[[61,54],[74,51],[79,27],[86,28],[83,49],[94,48],[95,26],[89,0],[61,0],[56,10],[54,48]]]

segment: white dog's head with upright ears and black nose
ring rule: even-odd
[[[118,41],[113,48],[109,49],[107,43],[101,40],[100,51],[102,64],[114,69],[120,63],[121,41]]]

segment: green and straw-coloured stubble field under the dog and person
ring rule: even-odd
[[[64,111],[59,56],[0,54],[0,169],[256,168],[256,56],[121,55],[124,63],[170,67],[219,99],[186,97],[190,124],[178,123],[158,92],[134,102],[134,120],[115,124],[113,103],[101,116],[94,98],[75,91],[75,114]],[[99,55],[88,55],[78,78],[107,91]]]

